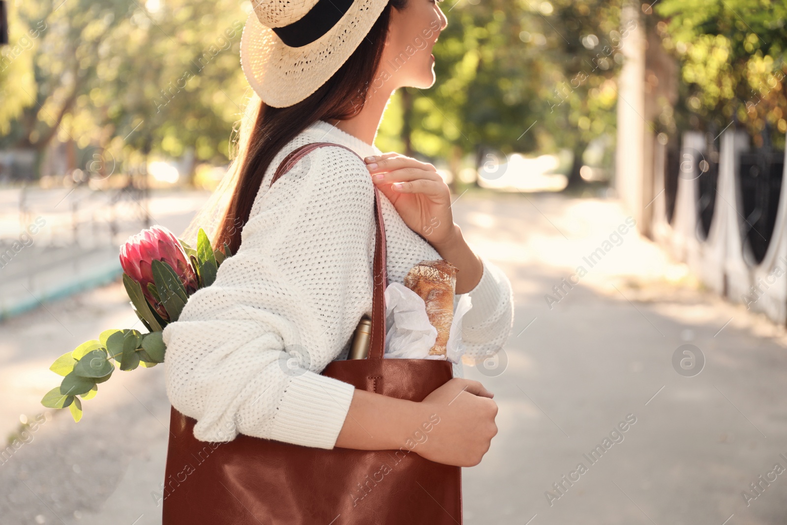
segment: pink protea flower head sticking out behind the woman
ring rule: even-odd
[[[160,305],[147,289],[148,283],[153,283],[153,270],[150,263],[154,260],[172,266],[183,287],[186,288],[187,295],[197,290],[197,275],[178,238],[163,226],[142,230],[139,234],[129,237],[124,246],[120,246],[120,266],[123,267],[123,271],[142,286],[142,293],[145,294],[150,305],[167,318],[164,306]]]

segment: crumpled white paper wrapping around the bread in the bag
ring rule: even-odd
[[[464,354],[462,342],[462,317],[471,309],[469,294],[461,294],[453,313],[445,356],[430,356],[429,349],[437,340],[438,331],[429,322],[427,306],[416,292],[401,283],[386,287],[386,348],[384,357],[399,359],[446,358],[459,363]]]

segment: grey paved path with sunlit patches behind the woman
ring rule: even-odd
[[[704,294],[685,267],[621,227],[615,201],[468,193],[454,210],[471,244],[508,273],[516,301],[497,367],[466,370],[501,409],[490,452],[463,472],[467,525],[784,523],[787,472],[762,482],[761,495],[749,488],[774,464],[787,468],[783,330]],[[597,248],[591,267],[584,257]],[[57,383],[50,360],[134,321],[113,283],[0,324],[0,425],[35,416]],[[693,377],[672,364],[687,344],[705,358]],[[78,424],[50,415],[0,464],[3,523],[160,523],[150,493],[167,438],[162,372],[121,372]],[[757,496],[748,506],[747,489]]]

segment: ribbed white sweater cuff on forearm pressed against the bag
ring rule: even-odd
[[[354,392],[355,386],[316,372],[295,376],[284,390],[270,438],[320,449],[334,448]]]

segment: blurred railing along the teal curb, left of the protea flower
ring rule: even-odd
[[[79,173],[77,173],[79,172]],[[0,320],[120,275],[120,242],[150,227],[148,188],[0,189]]]

